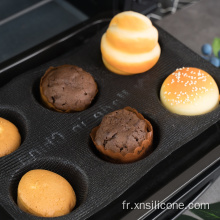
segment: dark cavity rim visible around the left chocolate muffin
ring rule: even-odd
[[[48,107],[42,102],[42,100],[41,100],[41,94],[40,94],[40,80],[41,80],[41,77],[37,78],[37,79],[34,81],[33,86],[32,86],[32,95],[33,95],[34,99],[37,101],[37,103],[38,103],[39,105],[41,105],[41,106],[42,106],[43,108],[45,108],[45,109],[48,109],[48,110],[50,110],[50,111],[52,111],[52,112],[65,114],[66,112],[59,112],[59,111],[56,111],[56,110],[54,110],[54,109],[48,108]],[[97,103],[97,101],[99,100],[100,91],[99,91],[99,85],[98,85],[97,81],[96,81],[96,84],[97,84],[97,87],[98,87],[98,92],[97,92],[96,96],[94,97],[94,99],[92,100],[91,104],[90,104],[85,110],[87,110],[87,109],[93,107],[93,106]],[[85,111],[85,110],[83,110],[83,111]],[[77,112],[78,112],[78,111],[76,111],[76,112],[70,112],[70,113],[77,113]]]

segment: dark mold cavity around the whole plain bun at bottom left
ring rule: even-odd
[[[17,206],[17,188],[22,176],[30,170],[44,169],[64,177],[73,187],[76,194],[76,210],[85,200],[88,194],[88,178],[86,174],[71,162],[60,158],[41,158],[34,162],[27,163],[17,170],[10,180],[9,194],[14,205]]]

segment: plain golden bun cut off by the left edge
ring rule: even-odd
[[[10,121],[0,118],[0,157],[8,155],[21,144],[21,135],[17,127]]]

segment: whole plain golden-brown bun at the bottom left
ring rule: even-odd
[[[31,170],[20,180],[17,204],[30,214],[57,217],[70,213],[76,195],[69,182],[49,170]]]

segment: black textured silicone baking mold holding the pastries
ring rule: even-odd
[[[22,212],[16,204],[18,182],[28,170],[49,169],[65,177],[76,191],[77,206],[59,219],[85,219],[219,120],[219,107],[201,116],[179,116],[168,112],[159,100],[163,80],[177,68],[198,67],[220,85],[216,68],[158,28],[162,53],[151,70],[133,76],[111,73],[104,67],[100,53],[105,30],[0,88],[0,116],[12,121],[22,135],[20,148],[0,158],[0,204],[15,219],[39,219]],[[59,113],[40,102],[40,78],[50,66],[63,64],[82,67],[98,84],[97,97],[82,112]],[[135,108],[152,123],[154,151],[134,163],[109,163],[99,157],[89,134],[104,115],[126,106]]]

